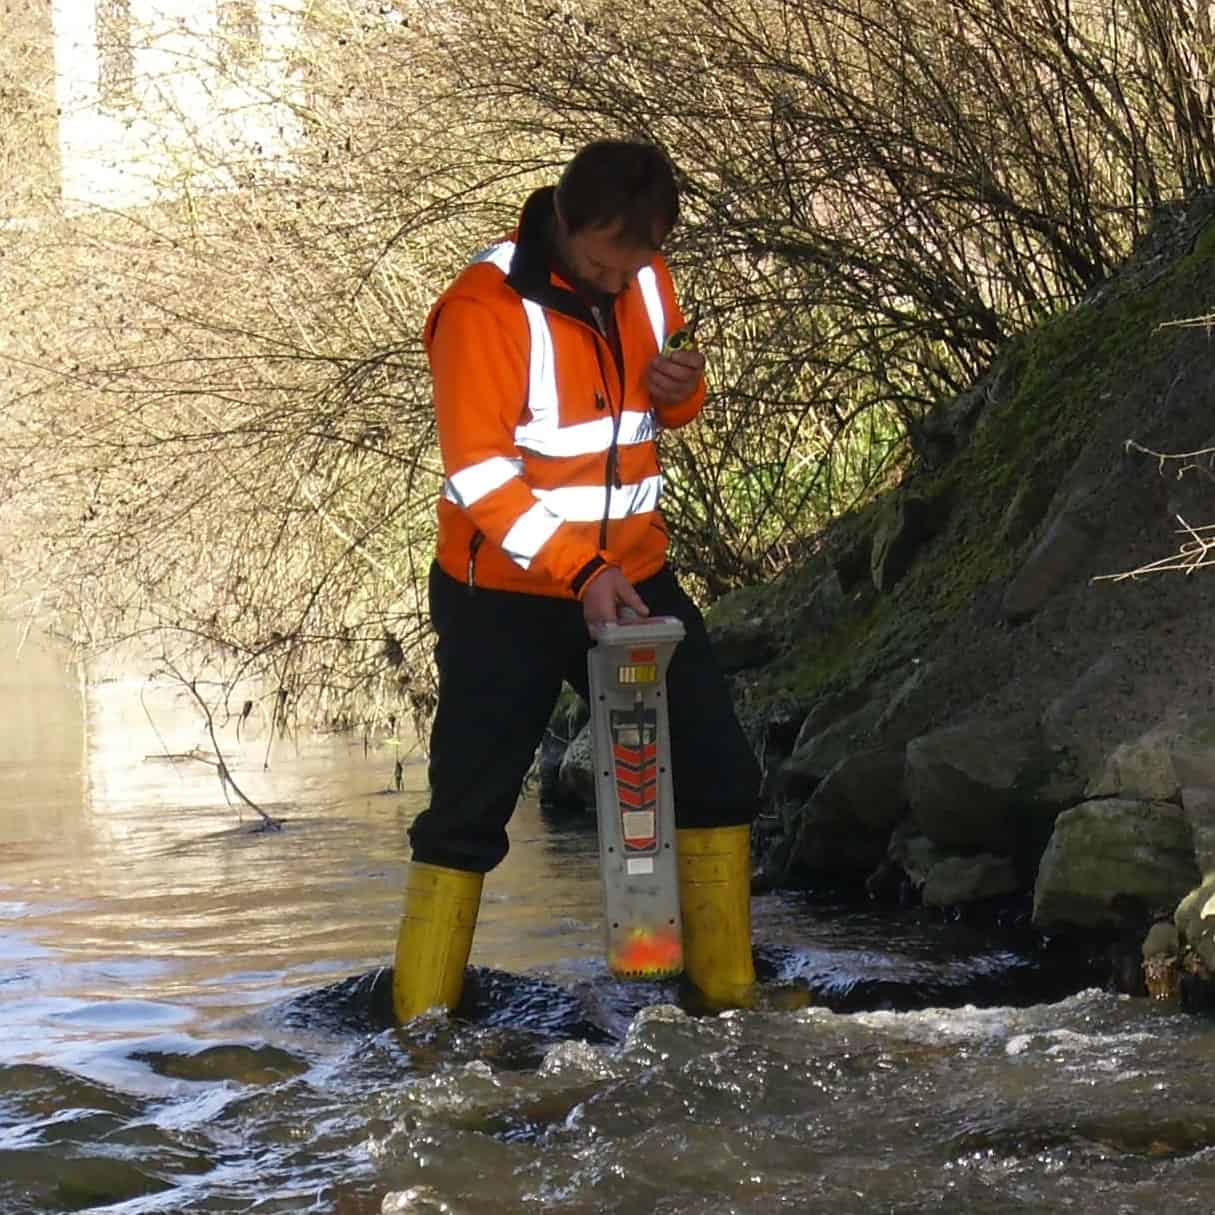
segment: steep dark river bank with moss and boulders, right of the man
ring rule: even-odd
[[[1211,1004],[1215,362],[1181,322],[1213,269],[1215,200],[1163,210],[897,485],[713,605],[764,768],[757,888],[1012,916],[1120,990]],[[546,758],[586,801],[584,739]]]

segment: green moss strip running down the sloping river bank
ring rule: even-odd
[[[1136,281],[1132,269],[1096,298],[1010,343],[995,368],[1012,385],[989,405],[962,451],[943,469],[912,474],[904,488],[928,498],[948,496],[945,526],[921,549],[908,573],[886,595],[868,582],[852,590],[825,639],[796,646],[748,680],[752,711],[765,701],[861,688],[904,665],[928,645],[982,587],[1016,572],[1028,546],[1051,518],[1056,490],[1126,386],[1162,364],[1180,338],[1162,322],[1210,312],[1215,225],[1200,231],[1193,250],[1164,273],[1146,264],[1154,281]],[[1129,436],[1111,435],[1113,457]],[[838,520],[823,548],[854,569],[868,553],[877,499]],[[821,569],[821,566],[819,567]],[[795,571],[769,588],[753,588],[745,610],[778,618],[781,595],[804,586]]]

